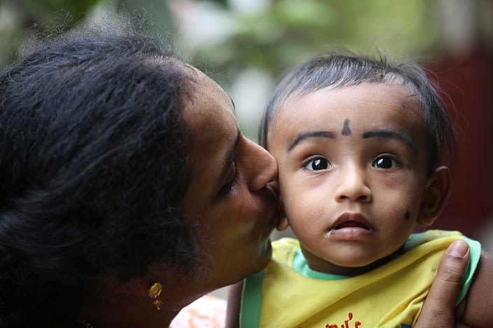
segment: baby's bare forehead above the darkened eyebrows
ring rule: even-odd
[[[387,127],[393,123],[401,127],[421,126],[424,113],[418,98],[403,84],[327,87],[287,98],[273,114],[270,132],[289,129],[292,125],[301,128],[303,124],[312,128],[345,124],[341,131],[347,132],[349,123],[376,126],[379,121]]]

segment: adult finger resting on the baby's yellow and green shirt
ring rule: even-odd
[[[415,328],[455,327],[455,303],[469,263],[469,246],[463,240],[448,247],[438,267]]]

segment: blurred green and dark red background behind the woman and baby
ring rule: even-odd
[[[1,0],[0,65],[27,38],[122,10],[171,36],[224,87],[252,140],[280,73],[311,54],[343,45],[419,61],[457,109],[455,190],[434,228],[493,251],[492,0]]]

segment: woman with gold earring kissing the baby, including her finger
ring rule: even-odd
[[[276,162],[154,39],[45,42],[0,74],[0,109],[0,327],[167,327],[269,262]],[[453,327],[454,249],[422,327]]]

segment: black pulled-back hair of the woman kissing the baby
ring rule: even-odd
[[[193,77],[130,28],[45,40],[0,73],[0,327],[69,325],[111,272],[195,274],[180,216]]]

